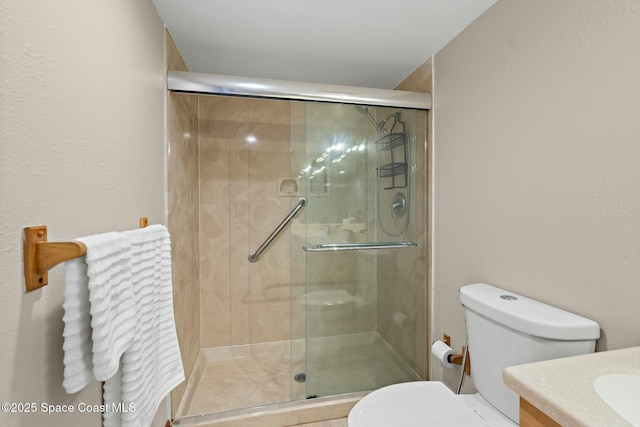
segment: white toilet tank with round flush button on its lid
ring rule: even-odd
[[[593,320],[486,283],[463,286],[471,378],[495,408],[519,422],[519,398],[502,382],[507,366],[592,353]]]

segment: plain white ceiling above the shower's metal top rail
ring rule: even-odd
[[[496,0],[153,0],[189,71],[392,89]]]

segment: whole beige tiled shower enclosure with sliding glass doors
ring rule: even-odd
[[[426,378],[428,96],[408,108],[173,78],[176,424]]]

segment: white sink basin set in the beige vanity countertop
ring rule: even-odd
[[[640,427],[640,375],[603,375],[593,382],[593,387],[614,411]]]

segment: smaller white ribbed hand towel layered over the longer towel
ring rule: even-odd
[[[67,261],[64,298],[64,378],[67,393],[115,375],[135,336],[131,244],[121,233],[77,239],[85,257]]]

